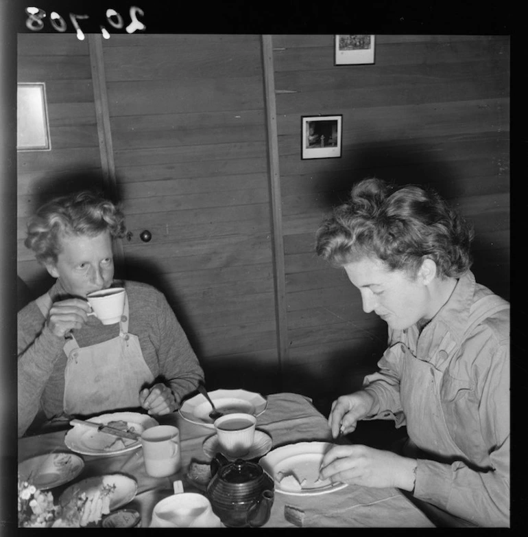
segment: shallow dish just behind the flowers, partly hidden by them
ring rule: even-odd
[[[86,492],[86,496],[89,498],[91,493],[93,494],[105,485],[115,485],[115,490],[110,496],[110,511],[119,509],[119,507],[123,507],[123,505],[132,501],[138,490],[138,484],[132,477],[122,474],[98,475],[70,485],[60,494],[59,503],[64,507],[75,496],[83,492]]]

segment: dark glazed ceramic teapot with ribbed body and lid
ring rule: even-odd
[[[213,512],[228,527],[259,527],[269,519],[273,479],[254,462],[228,461],[217,453],[211,461],[207,496]]]

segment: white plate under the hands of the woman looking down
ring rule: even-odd
[[[328,479],[318,481],[319,468],[330,442],[298,442],[280,446],[260,459],[259,464],[273,478],[276,492],[292,496],[314,496],[345,488],[347,483],[332,483]],[[282,477],[295,475],[299,482],[306,481],[301,490],[290,490],[280,485]]]

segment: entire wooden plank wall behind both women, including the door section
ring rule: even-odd
[[[324,215],[364,176],[435,186],[475,222],[477,279],[509,298],[509,38],[376,36],[374,65],[335,66],[331,35],[272,36],[282,378],[261,36],[112,35],[102,47],[132,233],[118,275],[166,293],[211,389],[333,398],[374,369],[385,323],[313,251]],[[46,82],[52,141],[19,152],[18,270],[34,292],[49,280],[23,247],[27,215],[49,192],[101,184],[90,60],[71,34],[19,34],[19,81]],[[317,114],[343,115],[341,158],[300,159],[300,117]]]

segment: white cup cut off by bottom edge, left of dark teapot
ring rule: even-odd
[[[211,502],[203,494],[172,494],[154,505],[150,527],[219,527]]]

